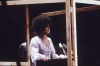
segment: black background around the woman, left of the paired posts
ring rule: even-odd
[[[0,61],[17,61],[19,60],[19,46],[26,42],[26,15],[25,5],[6,6],[2,3],[0,6]],[[34,4],[29,5],[29,22],[41,13],[64,10],[64,3],[53,4]],[[51,17],[53,24],[51,34],[54,46],[58,54],[61,49],[58,43],[66,42],[65,33],[65,15]]]

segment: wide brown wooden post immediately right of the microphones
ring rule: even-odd
[[[71,16],[70,16],[70,0],[66,0],[66,38],[67,38],[67,56],[68,66],[72,66],[72,46],[71,46]]]

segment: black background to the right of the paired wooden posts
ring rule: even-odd
[[[100,66],[100,9],[76,13],[76,24],[79,66]]]

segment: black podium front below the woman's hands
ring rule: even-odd
[[[37,60],[36,66],[67,66],[67,59]]]

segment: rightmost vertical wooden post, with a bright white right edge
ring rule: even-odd
[[[76,38],[76,10],[75,10],[75,1],[72,0],[71,3],[72,7],[72,45],[73,45],[73,61],[74,61],[74,66],[78,66],[77,62],[77,38]]]

